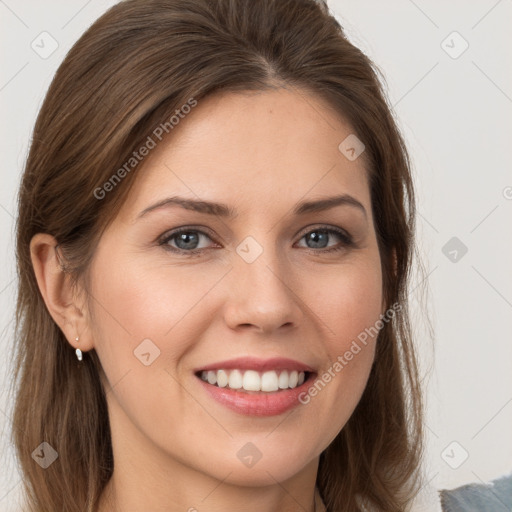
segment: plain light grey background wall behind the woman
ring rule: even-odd
[[[16,296],[15,196],[54,72],[82,32],[114,3],[0,0],[5,356],[0,362],[0,509],[5,511],[16,509],[21,489],[8,443],[12,404],[6,398]],[[383,70],[413,158],[429,288],[427,303],[416,297],[419,288],[411,294],[428,404],[426,483],[415,510],[435,511],[437,489],[487,482],[512,471],[512,0],[329,4],[352,42]],[[43,31],[58,42],[46,59],[31,48]],[[453,58],[464,40],[468,49]],[[459,247],[446,246],[452,237]],[[460,243],[467,247],[464,255]],[[427,309],[433,337],[424,320]]]

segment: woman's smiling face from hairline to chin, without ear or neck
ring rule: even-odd
[[[265,485],[343,428],[374,358],[375,338],[353,342],[384,312],[351,133],[274,89],[201,100],[151,150],[91,266],[115,453]],[[322,207],[335,196],[352,199]]]

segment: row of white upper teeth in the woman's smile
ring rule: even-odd
[[[201,372],[201,379],[221,388],[264,391],[271,393],[293,389],[304,383],[305,372],[282,370],[257,372],[254,370],[209,370]]]

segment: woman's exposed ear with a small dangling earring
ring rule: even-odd
[[[64,272],[57,253],[57,241],[51,235],[38,233],[30,241],[30,257],[43,300],[55,323],[73,348],[82,352],[94,348],[90,332],[85,293],[78,293]],[[83,302],[83,303],[82,303]],[[76,341],[76,337],[79,341]]]

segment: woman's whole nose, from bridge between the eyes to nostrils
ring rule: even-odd
[[[299,321],[301,309],[293,292],[293,275],[271,239],[266,236],[264,246],[247,237],[236,248],[226,308],[226,321],[232,328],[251,324],[270,332]]]

